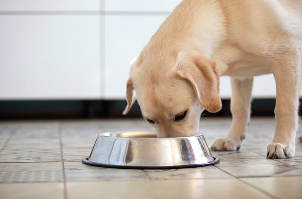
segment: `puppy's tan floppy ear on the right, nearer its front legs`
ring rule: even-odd
[[[221,109],[219,73],[214,61],[195,51],[182,51],[178,54],[174,75],[190,83],[199,103],[208,112]]]

